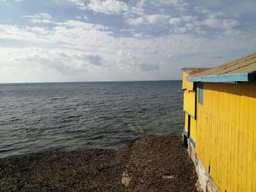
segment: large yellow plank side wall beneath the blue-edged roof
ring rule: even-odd
[[[203,84],[196,153],[220,191],[256,191],[256,82]]]

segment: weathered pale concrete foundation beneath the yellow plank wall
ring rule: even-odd
[[[189,156],[195,164],[195,170],[197,172],[200,188],[202,188],[203,192],[219,192],[219,189],[215,185],[214,181],[211,179],[211,175],[208,174],[208,171],[203,165],[203,162],[195,153],[195,147],[192,142],[184,135],[183,139],[185,146],[187,146]]]

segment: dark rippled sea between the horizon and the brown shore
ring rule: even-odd
[[[0,84],[0,157],[181,134],[181,81]]]

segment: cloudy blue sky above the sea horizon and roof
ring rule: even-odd
[[[0,0],[0,82],[181,80],[255,50],[255,0]]]

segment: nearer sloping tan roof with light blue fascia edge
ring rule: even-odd
[[[190,82],[248,82],[256,77],[256,53],[203,72],[191,74]]]

